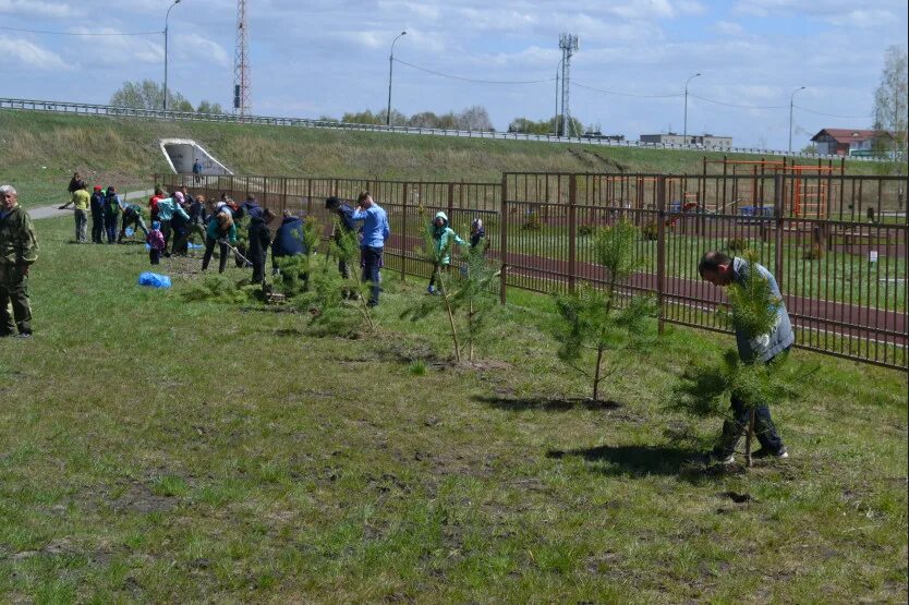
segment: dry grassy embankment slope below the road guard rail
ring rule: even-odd
[[[498,182],[502,171],[700,173],[703,159],[696,152],[0,111],[0,181],[22,183],[26,206],[61,201],[75,170],[92,182],[147,187],[150,174],[167,169],[157,141],[168,136],[195,138],[239,174]],[[856,162],[849,171],[870,168]]]

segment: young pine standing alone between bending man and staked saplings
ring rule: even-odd
[[[634,255],[639,235],[627,220],[597,231],[594,257],[606,269],[605,288],[585,286],[577,293],[556,295],[559,359],[591,379],[594,401],[599,401],[601,383],[620,367],[617,360],[604,367],[607,353],[618,358],[616,353],[641,348],[653,338],[653,299],[619,290],[640,264]],[[592,372],[581,365],[587,352],[596,355]]]

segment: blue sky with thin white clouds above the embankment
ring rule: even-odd
[[[107,104],[123,82],[162,82],[171,4],[0,0],[0,96]],[[407,31],[395,45],[396,109],[480,105],[497,130],[548,119],[565,32],[580,40],[570,113],[583,124],[629,140],[680,133],[686,82],[700,73],[688,132],[774,149],[788,146],[801,86],[793,149],[823,128],[870,128],[884,52],[909,34],[906,0],[247,0],[246,10],[258,116],[384,109],[389,48]],[[235,0],[175,5],[169,87],[231,107],[235,27]],[[124,33],[148,34],[98,35]]]

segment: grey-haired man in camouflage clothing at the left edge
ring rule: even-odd
[[[32,336],[28,268],[38,258],[32,218],[12,185],[0,186],[0,337]],[[13,320],[15,318],[15,322]]]

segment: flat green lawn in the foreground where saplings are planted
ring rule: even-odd
[[[822,371],[774,410],[793,457],[708,476],[663,406],[728,337],[671,331],[591,409],[547,299],[502,310],[502,363],[436,368],[441,318],[397,318],[416,280],[386,276],[381,338],[314,338],[182,302],[193,277],[140,289],[138,246],[70,231],[39,223],[37,336],[0,341],[3,601],[905,600],[904,374],[798,352]]]

